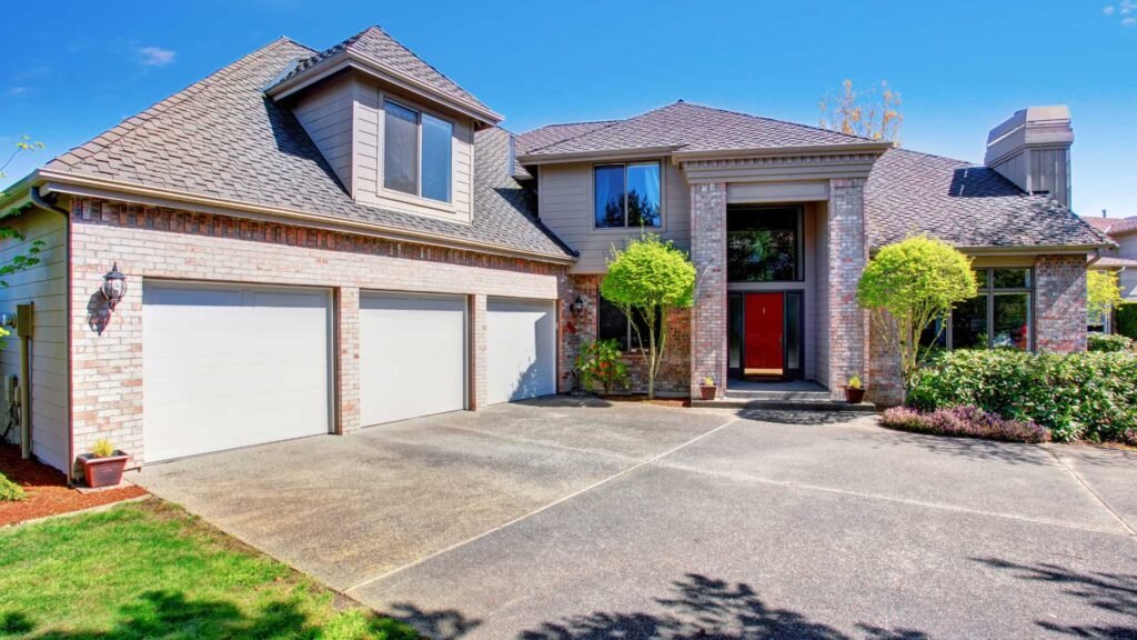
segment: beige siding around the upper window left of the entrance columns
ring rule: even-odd
[[[690,195],[682,171],[664,158],[663,229],[665,239],[690,251]],[[570,247],[580,252],[572,273],[604,273],[613,245],[640,233],[637,229],[592,228],[592,165],[572,163],[542,165],[538,175],[538,211],[541,221]]]

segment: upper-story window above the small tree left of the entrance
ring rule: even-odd
[[[659,163],[598,164],[592,169],[597,229],[661,227]]]

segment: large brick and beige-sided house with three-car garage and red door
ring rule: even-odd
[[[33,453],[69,469],[109,437],[142,465],[567,392],[584,340],[636,348],[597,287],[641,228],[699,272],[667,319],[658,388],[677,395],[706,376],[836,395],[860,375],[894,402],[855,287],[872,249],[919,232],[984,281],[946,346],[1085,348],[1109,240],[1070,212],[1063,108],[996,128],[986,166],[683,101],[516,136],[501,120],[379,28],[281,39],[10,187],[24,240],[2,256],[44,243],[0,302],[34,303]]]

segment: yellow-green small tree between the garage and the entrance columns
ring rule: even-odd
[[[672,310],[695,304],[695,265],[670,240],[644,233],[623,249],[613,248],[600,295],[628,317],[647,364],[647,395],[655,397],[655,377],[667,348],[666,320]]]

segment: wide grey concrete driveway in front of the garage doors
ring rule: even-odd
[[[156,465],[434,638],[1137,638],[1137,454],[550,399]]]

